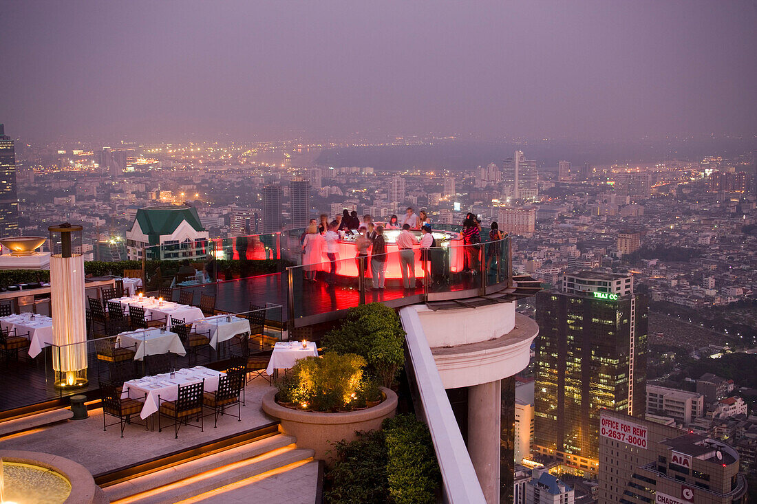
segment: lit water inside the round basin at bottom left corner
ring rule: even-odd
[[[0,504],[61,504],[70,493],[69,481],[52,469],[0,459]]]

